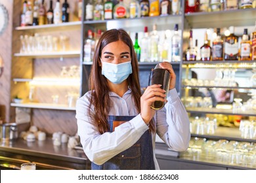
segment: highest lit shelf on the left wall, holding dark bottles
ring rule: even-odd
[[[46,25],[35,25],[35,26],[24,26],[24,27],[16,27],[17,31],[26,31],[26,30],[34,30],[34,29],[66,29],[67,27],[81,27],[81,21],[77,22],[66,22],[62,24],[46,24]]]

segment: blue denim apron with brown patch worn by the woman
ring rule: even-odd
[[[115,127],[133,119],[135,116],[108,116],[110,132]],[[102,165],[91,163],[92,170],[154,170],[152,137],[147,130],[133,146],[120,152]]]

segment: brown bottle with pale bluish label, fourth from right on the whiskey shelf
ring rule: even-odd
[[[223,39],[221,38],[221,29],[217,28],[217,37],[213,40],[213,61],[223,60]]]

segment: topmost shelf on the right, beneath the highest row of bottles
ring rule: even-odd
[[[255,8],[185,14],[191,28],[255,25]]]

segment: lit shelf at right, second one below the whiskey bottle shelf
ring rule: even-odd
[[[226,115],[241,115],[241,116],[256,116],[256,110],[246,110],[245,112],[233,112],[232,109],[219,108],[186,108],[186,112],[200,114],[226,114]]]

